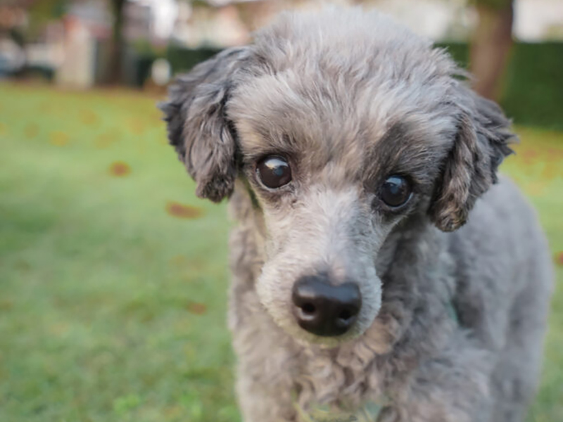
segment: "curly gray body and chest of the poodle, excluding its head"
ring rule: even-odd
[[[296,398],[304,409],[390,402],[401,415],[390,421],[524,420],[550,274],[536,216],[510,181],[491,188],[452,234],[424,222],[398,231],[379,263],[377,319],[336,349],[301,345],[262,309],[253,286],[263,234],[243,188],[232,212],[241,225],[231,239],[229,321],[245,421],[294,421]]]

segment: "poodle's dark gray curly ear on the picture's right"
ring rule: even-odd
[[[429,215],[442,231],[462,226],[475,201],[497,182],[502,160],[512,153],[510,120],[493,101],[460,87],[457,136],[438,179]]]

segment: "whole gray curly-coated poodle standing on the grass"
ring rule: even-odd
[[[548,246],[497,176],[510,122],[463,76],[384,15],[328,9],[172,84],[170,143],[238,222],[244,421],[524,420]]]

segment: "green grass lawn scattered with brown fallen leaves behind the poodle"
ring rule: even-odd
[[[0,421],[236,422],[224,205],[156,99],[0,84]],[[503,170],[563,250],[563,133]],[[563,421],[563,270],[531,421]]]

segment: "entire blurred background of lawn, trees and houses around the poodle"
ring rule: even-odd
[[[156,103],[285,9],[379,8],[448,49],[521,144],[557,288],[529,421],[563,421],[562,0],[0,0],[0,421],[240,421],[225,205]]]

